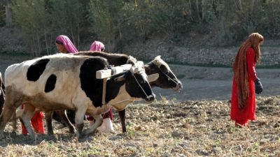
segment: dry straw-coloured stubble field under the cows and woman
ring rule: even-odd
[[[200,100],[127,108],[127,133],[121,133],[116,114],[116,133],[87,136],[82,142],[66,128],[55,135],[12,135],[0,140],[1,156],[280,156],[280,96],[258,97],[257,121],[251,128],[236,128],[230,121],[226,100]]]

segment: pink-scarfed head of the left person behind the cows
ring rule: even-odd
[[[68,36],[64,36],[64,35],[57,36],[57,38],[55,39],[55,45],[57,46],[57,50],[64,54],[68,54],[68,53],[73,54],[78,52],[78,50],[73,45],[73,43],[68,38]]]

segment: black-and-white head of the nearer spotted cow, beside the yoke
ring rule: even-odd
[[[114,80],[116,82],[125,82],[125,90],[133,98],[143,98],[146,103],[151,103],[155,99],[143,62],[137,61],[130,70],[125,71]]]

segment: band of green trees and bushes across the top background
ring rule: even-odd
[[[235,44],[255,31],[277,38],[279,4],[274,0],[14,0],[12,10],[24,40],[34,54],[40,54],[52,52],[59,34],[69,36],[78,49],[82,43],[101,40],[115,52],[132,40],[158,35],[178,44],[193,34],[209,36],[216,45]]]

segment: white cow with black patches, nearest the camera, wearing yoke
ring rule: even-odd
[[[76,136],[94,132],[100,124],[100,114],[124,100],[144,99],[151,103],[155,95],[141,67],[113,75],[106,83],[105,104],[102,103],[103,80],[97,70],[109,67],[102,57],[55,54],[13,64],[6,69],[6,101],[0,116],[0,135],[16,108],[25,104],[21,119],[29,135],[36,139],[30,119],[38,111],[75,110]],[[83,130],[83,118],[90,114],[94,125]]]

